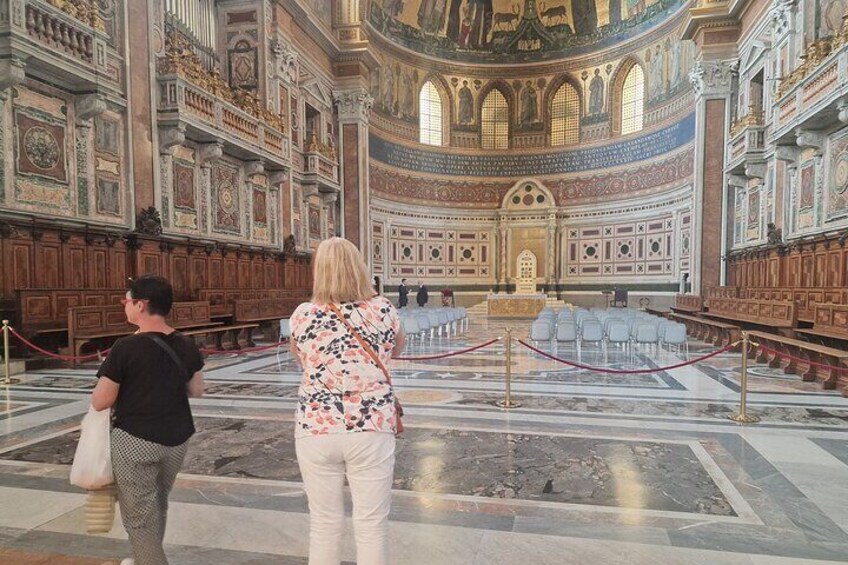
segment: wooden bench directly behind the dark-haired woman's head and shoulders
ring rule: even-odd
[[[231,334],[235,348],[239,347],[238,334],[243,330],[252,331],[258,324],[224,325],[214,322],[210,316],[208,302],[175,302],[167,318],[168,324],[186,335],[212,335],[216,347],[224,349],[223,337]],[[124,307],[82,306],[68,310],[68,346],[72,354],[79,357],[86,344],[97,340],[129,335],[136,326],[127,322]]]

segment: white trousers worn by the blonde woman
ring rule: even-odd
[[[353,499],[357,563],[389,565],[394,434],[355,432],[298,438],[295,448],[309,498],[309,565],[341,563],[345,476]]]

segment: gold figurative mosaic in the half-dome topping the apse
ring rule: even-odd
[[[418,53],[474,63],[585,53],[667,19],[682,0],[375,0],[369,20]]]

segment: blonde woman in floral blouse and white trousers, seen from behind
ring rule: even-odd
[[[291,318],[292,351],[303,366],[295,446],[309,498],[309,565],[341,563],[345,477],[357,562],[388,565],[399,414],[385,366],[404,336],[351,242],[323,241],[313,263],[312,301]]]

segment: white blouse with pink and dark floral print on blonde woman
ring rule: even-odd
[[[388,367],[400,331],[388,299],[338,305],[339,311]],[[303,378],[295,437],[395,431],[395,396],[383,371],[327,306],[305,302],[291,317]]]

